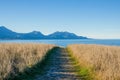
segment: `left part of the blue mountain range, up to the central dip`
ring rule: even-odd
[[[30,33],[17,33],[4,26],[0,27],[0,39],[42,39],[44,37],[45,36],[38,31]]]

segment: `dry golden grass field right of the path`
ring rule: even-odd
[[[95,80],[120,80],[120,47],[73,44],[68,49],[81,66],[93,71]]]

